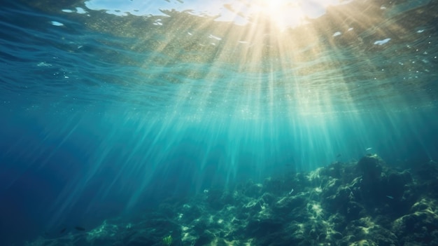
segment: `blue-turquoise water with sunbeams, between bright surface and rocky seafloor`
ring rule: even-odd
[[[438,159],[436,1],[297,46],[46,2],[0,8],[1,245],[366,153]]]

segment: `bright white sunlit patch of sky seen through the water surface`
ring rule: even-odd
[[[279,29],[306,24],[306,19],[318,18],[328,6],[348,4],[351,0],[225,0],[225,1],[86,1],[87,8],[105,10],[115,15],[163,15],[163,11],[187,12],[197,16],[215,17],[217,21],[247,25],[260,19],[271,22]]]

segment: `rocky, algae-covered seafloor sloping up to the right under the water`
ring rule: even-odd
[[[27,245],[438,245],[438,164],[368,155],[310,173],[166,200],[138,221]]]

